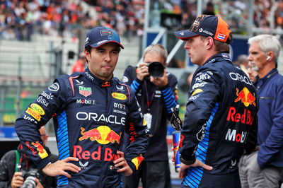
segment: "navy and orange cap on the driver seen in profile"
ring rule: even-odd
[[[175,36],[180,40],[188,40],[190,37],[202,35],[212,37],[214,40],[230,43],[227,41],[231,33],[229,25],[219,16],[200,15],[197,16],[189,30],[180,30],[175,32]]]

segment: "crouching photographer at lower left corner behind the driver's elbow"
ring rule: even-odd
[[[52,163],[57,160],[57,155],[50,154],[49,148],[45,146],[48,135],[45,132],[45,127],[40,128],[40,136],[44,143],[44,148],[50,155]],[[18,154],[17,154],[18,153]],[[18,155],[18,160],[17,160]],[[16,165],[16,163],[18,165]],[[37,188],[41,187],[56,187],[57,177],[45,175],[41,170],[38,170],[36,165],[23,153],[23,146],[20,144],[17,150],[8,151],[0,161],[0,187],[21,187],[26,178],[35,177],[30,181],[37,184]]]

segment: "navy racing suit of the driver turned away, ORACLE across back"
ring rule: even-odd
[[[183,187],[241,187],[237,163],[256,146],[257,112],[253,83],[229,54],[216,54],[195,71],[180,154],[187,164],[198,159],[213,170],[188,168]]]

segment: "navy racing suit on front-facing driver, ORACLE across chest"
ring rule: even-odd
[[[112,78],[102,81],[86,69],[83,73],[63,75],[42,91],[16,120],[16,132],[25,152],[39,168],[50,163],[42,148],[38,129],[54,120],[59,160],[69,156],[81,168],[69,172],[71,179],[59,175],[58,187],[121,187],[120,173],[112,161],[129,134],[125,159],[133,171],[144,159],[148,129],[134,91]]]

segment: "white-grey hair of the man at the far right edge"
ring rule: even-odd
[[[263,52],[267,53],[269,51],[272,51],[275,53],[275,64],[277,64],[277,59],[279,57],[281,44],[277,37],[273,35],[257,35],[255,37],[251,37],[248,40],[248,44],[252,45],[253,43],[258,42],[260,45],[260,49],[262,49]]]

